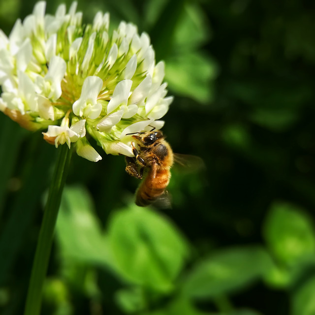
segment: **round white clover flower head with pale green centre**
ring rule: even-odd
[[[136,26],[109,32],[101,12],[83,26],[76,6],[49,15],[40,1],[8,37],[0,30],[0,111],[27,129],[48,128],[47,142],[89,160],[101,159],[89,137],[107,154],[132,156],[130,133],[161,128],[172,102],[164,63]]]

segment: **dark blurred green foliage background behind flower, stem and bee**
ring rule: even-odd
[[[70,1],[66,1],[69,6]],[[59,1],[49,1],[54,13]],[[0,0],[9,34],[34,1]],[[175,100],[173,208],[138,208],[123,157],[73,156],[44,315],[315,314],[315,2],[79,1],[148,32]],[[0,314],[23,314],[57,150],[0,115]]]

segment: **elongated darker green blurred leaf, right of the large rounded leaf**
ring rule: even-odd
[[[268,268],[269,256],[260,247],[214,252],[192,269],[183,293],[193,298],[216,297],[251,283]]]

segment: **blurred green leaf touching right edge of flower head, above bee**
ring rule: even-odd
[[[213,98],[211,81],[217,76],[215,62],[200,52],[179,54],[165,60],[165,81],[179,95],[201,103]]]

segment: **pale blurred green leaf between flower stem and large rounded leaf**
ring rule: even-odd
[[[77,186],[63,190],[56,229],[64,255],[81,262],[111,265],[106,235],[101,230],[91,196],[85,188]]]

